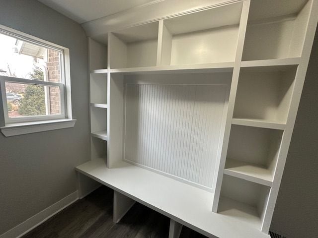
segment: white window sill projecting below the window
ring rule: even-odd
[[[59,119],[12,123],[1,126],[0,130],[5,137],[24,135],[48,130],[57,130],[74,127],[76,119]]]

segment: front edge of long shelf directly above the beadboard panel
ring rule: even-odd
[[[167,73],[167,72],[231,72],[234,62],[203,63],[189,65],[148,66],[134,68],[113,68],[110,73]]]

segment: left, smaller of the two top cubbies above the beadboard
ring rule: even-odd
[[[156,66],[158,24],[152,22],[110,33],[110,68]]]

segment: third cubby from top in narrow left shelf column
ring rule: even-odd
[[[92,136],[107,140],[107,110],[104,108],[90,108],[90,127]]]

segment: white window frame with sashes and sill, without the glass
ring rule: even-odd
[[[14,78],[8,76],[0,76],[1,96],[0,100],[0,130],[4,136],[21,135],[35,133],[40,131],[48,131],[73,127],[76,119],[72,117],[71,103],[71,74],[70,74],[70,50],[63,46],[42,40],[40,38],[25,34],[23,32],[0,25],[0,33],[35,43],[49,49],[62,51],[61,54],[61,80],[62,83],[37,81],[30,79]],[[64,67],[63,67],[64,66]],[[65,81],[63,81],[65,80]],[[6,94],[4,81],[32,83],[43,86],[58,86],[61,89],[61,115],[25,117],[18,119],[9,119],[7,114]],[[4,91],[4,93],[3,93]],[[64,104],[65,105],[62,105]]]

